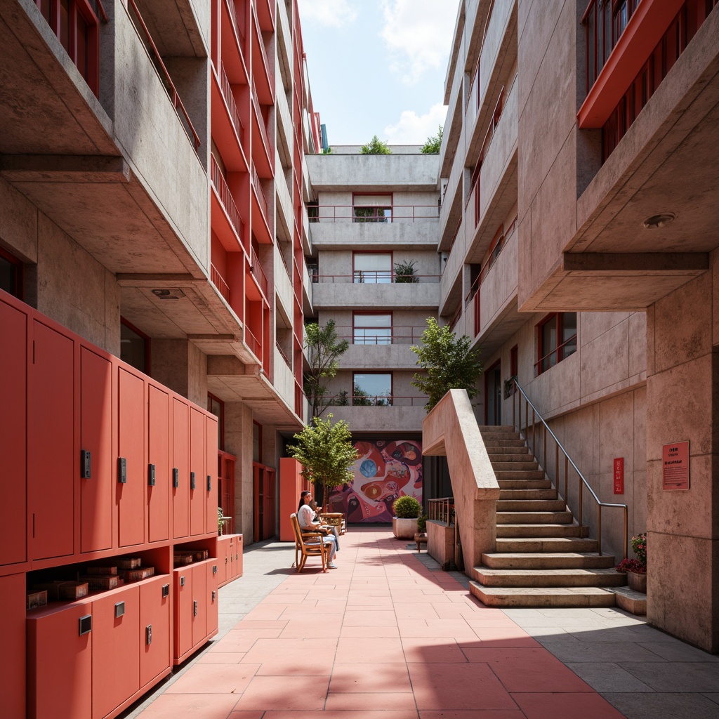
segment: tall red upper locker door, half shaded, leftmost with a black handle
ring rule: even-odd
[[[112,546],[112,364],[80,348],[80,449],[90,477],[80,484],[80,551]]]

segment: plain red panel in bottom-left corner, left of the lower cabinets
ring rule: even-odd
[[[6,660],[0,672],[2,715],[25,716],[25,575],[0,577],[0,636]]]

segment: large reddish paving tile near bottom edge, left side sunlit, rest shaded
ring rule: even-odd
[[[417,708],[516,709],[487,664],[408,664]]]

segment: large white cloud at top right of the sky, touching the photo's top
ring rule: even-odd
[[[390,49],[390,69],[408,85],[449,57],[457,0],[381,0],[385,24],[380,37]]]

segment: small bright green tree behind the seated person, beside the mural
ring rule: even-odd
[[[313,417],[312,423],[293,439],[296,444],[288,445],[287,451],[302,464],[302,476],[316,488],[322,487],[322,503],[326,502],[329,490],[354,477],[350,467],[359,455],[344,420],[333,424],[331,413],[326,419]]]

